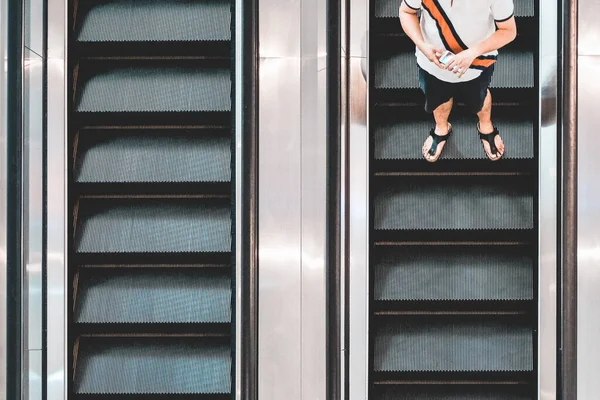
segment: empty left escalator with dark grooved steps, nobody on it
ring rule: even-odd
[[[69,398],[230,399],[233,2],[71,11]]]

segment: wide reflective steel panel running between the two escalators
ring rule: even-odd
[[[325,2],[259,3],[259,399],[325,398]]]

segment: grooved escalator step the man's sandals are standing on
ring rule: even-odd
[[[446,142],[440,159],[487,160],[477,133],[477,119],[461,117],[450,122],[453,133]],[[504,141],[505,159],[533,158],[533,121],[495,118],[494,123]],[[433,119],[402,120],[375,125],[375,159],[421,160],[421,148],[432,127]]]

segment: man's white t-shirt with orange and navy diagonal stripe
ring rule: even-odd
[[[459,53],[476,46],[496,31],[496,22],[514,15],[513,0],[403,0],[414,10],[421,9],[421,32],[427,43]],[[441,69],[417,48],[417,63],[445,82],[465,82],[477,78],[496,60],[498,51],[478,57],[462,78]]]

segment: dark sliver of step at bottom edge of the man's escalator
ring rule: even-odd
[[[523,390],[507,387],[456,387],[412,388],[387,386],[378,388],[375,400],[533,400]],[[521,393],[520,393],[521,392]]]

